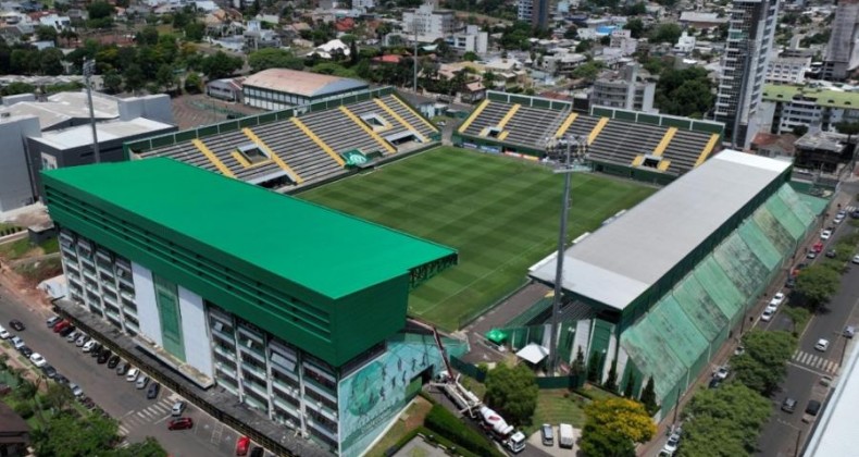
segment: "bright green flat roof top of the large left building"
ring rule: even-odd
[[[171,159],[73,166],[45,174],[331,298],[457,254]]]

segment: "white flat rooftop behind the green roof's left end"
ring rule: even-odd
[[[130,121],[100,122],[96,124],[99,144],[113,139],[130,138],[137,135],[158,135],[175,128],[174,125],[164,124],[146,118],[136,118]],[[45,132],[41,134],[41,137],[33,139],[57,149],[90,146],[92,145],[92,128],[89,125],[78,125],[62,131]]]

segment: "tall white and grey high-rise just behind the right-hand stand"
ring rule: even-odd
[[[725,138],[736,147],[748,147],[757,131],[777,13],[779,0],[734,0],[731,5],[715,120],[725,123]]]

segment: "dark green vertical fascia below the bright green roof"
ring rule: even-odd
[[[197,239],[43,176],[58,225],[103,244],[339,367],[406,323],[408,273],[333,299]],[[240,236],[240,235],[237,235]]]

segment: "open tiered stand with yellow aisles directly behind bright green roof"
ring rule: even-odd
[[[169,157],[288,190],[348,173],[440,134],[391,88],[270,112],[124,145],[139,159]]]

